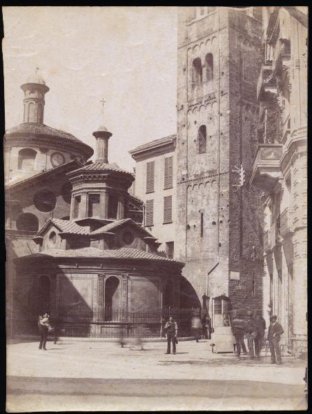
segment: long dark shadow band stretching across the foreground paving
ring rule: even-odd
[[[122,397],[304,397],[304,384],[289,385],[257,381],[226,380],[149,380],[119,378],[66,378],[9,376],[10,394],[110,395]]]

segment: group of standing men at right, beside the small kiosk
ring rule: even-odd
[[[235,337],[237,357],[240,357],[241,353],[247,353],[244,344],[244,335],[246,335],[247,338],[248,353],[250,357],[259,357],[266,329],[264,318],[261,315],[255,315],[255,317],[253,317],[252,312],[248,311],[247,319],[244,319],[234,312],[231,327]],[[284,333],[284,331],[282,326],[277,322],[277,316],[272,315],[270,317],[270,326],[268,329],[271,364],[282,364],[280,353],[280,336],[282,333]]]

